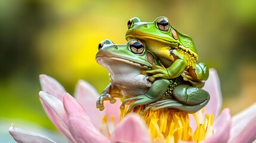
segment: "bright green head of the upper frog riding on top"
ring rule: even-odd
[[[184,46],[193,52],[196,52],[192,39],[174,29],[169,23],[168,18],[158,17],[153,22],[141,22],[140,18],[131,18],[128,23],[128,31],[125,35],[127,41],[129,39],[138,38],[147,44],[147,42],[157,42],[156,44],[165,46]],[[152,45],[152,43],[150,43]]]

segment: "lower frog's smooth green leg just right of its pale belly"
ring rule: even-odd
[[[121,110],[125,108],[125,104],[127,102],[131,101],[134,102],[129,106],[127,113],[129,113],[137,105],[147,105],[158,101],[167,91],[169,84],[170,82],[167,79],[156,80],[145,94],[125,99],[120,107]]]

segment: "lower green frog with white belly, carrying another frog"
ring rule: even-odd
[[[144,43],[138,39],[131,39],[125,45],[105,40],[98,45],[98,49],[96,61],[110,75],[110,84],[96,103],[101,111],[104,110],[104,101],[109,100],[113,104],[116,102],[115,98],[122,97],[124,101],[121,109],[125,104],[134,101],[128,112],[137,105],[149,105],[145,110],[173,108],[195,113],[209,101],[208,92],[192,86],[181,76],[174,79],[156,78],[151,81],[148,74],[141,74],[141,70],[147,71],[161,66],[158,58],[147,51]]]

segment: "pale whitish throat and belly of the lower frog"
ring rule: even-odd
[[[97,62],[109,71],[111,84],[124,97],[145,94],[152,85],[149,77],[141,74],[141,70],[150,70],[143,64],[109,57],[97,58]]]

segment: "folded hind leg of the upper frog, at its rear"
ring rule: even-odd
[[[183,73],[182,76],[184,80],[188,80],[190,82],[204,82],[209,77],[209,68],[205,65],[205,63],[195,63],[189,67],[187,73]]]

